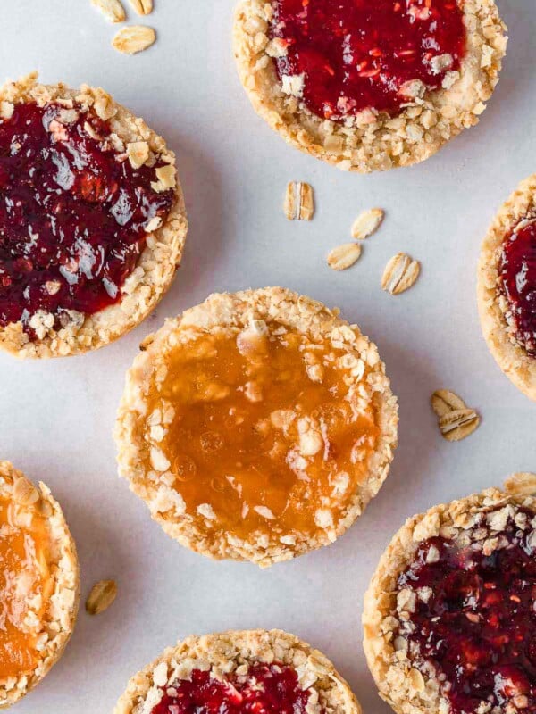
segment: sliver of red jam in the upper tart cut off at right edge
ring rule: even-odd
[[[499,264],[517,341],[536,357],[536,220],[505,242]]]

